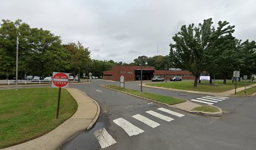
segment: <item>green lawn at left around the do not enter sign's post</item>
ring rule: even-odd
[[[55,129],[77,110],[77,102],[61,89],[56,119],[57,88],[0,90],[0,148],[23,143]]]

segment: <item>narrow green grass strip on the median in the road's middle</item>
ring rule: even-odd
[[[148,99],[152,99],[152,100],[159,101],[162,103],[170,104],[170,105],[186,102],[184,99],[173,98],[170,96],[163,96],[163,95],[154,94],[154,93],[146,93],[146,92],[141,93],[141,91],[137,91],[134,89],[126,89],[126,88],[124,89],[124,88],[120,88],[119,86],[107,85],[107,87],[112,88],[112,89],[117,89],[117,90],[123,91],[125,93],[130,93],[130,94],[134,94],[137,96],[141,96],[143,98],[148,98]]]

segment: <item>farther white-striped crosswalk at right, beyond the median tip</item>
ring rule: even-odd
[[[195,101],[198,103],[204,103],[204,104],[214,104],[214,103],[218,103],[220,101],[223,101],[225,99],[228,99],[227,97],[223,97],[223,96],[202,96],[200,98],[196,98],[196,99],[191,99],[191,101]]]

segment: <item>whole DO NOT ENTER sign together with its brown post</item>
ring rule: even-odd
[[[56,119],[58,119],[59,116],[59,111],[60,111],[60,94],[61,94],[61,88],[68,87],[68,78],[69,74],[68,73],[56,73],[53,72],[53,81],[51,83],[52,88],[59,88],[59,93],[58,93],[58,106],[57,106],[57,114],[56,114]]]

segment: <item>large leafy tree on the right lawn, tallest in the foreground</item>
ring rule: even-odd
[[[194,87],[197,87],[200,74],[209,64],[208,51],[215,49],[216,41],[227,34],[234,32],[235,26],[227,26],[227,21],[219,21],[215,29],[212,19],[206,19],[203,24],[195,27],[189,24],[181,27],[175,36],[174,44],[170,44],[170,57],[174,60],[176,68],[186,69],[195,76]],[[221,41],[218,41],[221,42]],[[224,41],[222,41],[224,42]]]

